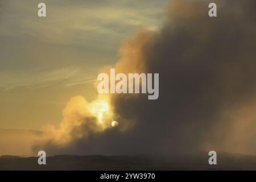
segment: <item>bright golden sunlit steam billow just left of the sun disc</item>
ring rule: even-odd
[[[63,111],[64,118],[59,129],[48,125],[44,140],[57,146],[65,146],[74,139],[105,131],[110,127],[109,122],[113,115],[112,105],[106,95],[98,96],[92,102],[87,102],[81,96],[73,97]]]

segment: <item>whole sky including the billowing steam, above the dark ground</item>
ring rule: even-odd
[[[0,127],[45,131],[34,154],[256,154],[254,0],[31,2],[1,1]],[[97,94],[109,68],[158,100]]]

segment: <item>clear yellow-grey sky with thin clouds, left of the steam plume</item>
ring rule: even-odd
[[[141,26],[156,31],[161,1],[0,1],[0,128],[58,126],[72,96],[93,100],[94,80],[114,65],[123,39]]]

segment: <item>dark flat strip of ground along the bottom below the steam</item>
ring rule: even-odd
[[[3,155],[0,170],[256,170],[256,156],[218,153],[217,165],[209,165],[207,153],[161,157],[56,155],[47,157],[46,165],[39,165],[38,157]]]

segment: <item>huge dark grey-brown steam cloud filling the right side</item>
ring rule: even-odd
[[[208,16],[210,2],[218,5],[217,18]],[[162,30],[155,35],[142,31],[133,42],[147,39],[135,51],[137,64],[145,72],[159,73],[159,99],[114,96],[120,126],[122,119],[136,121],[132,129],[90,135],[52,154],[180,154],[209,146],[210,150],[256,152],[251,144],[255,120],[246,122],[245,128],[253,130],[234,130],[238,123],[244,126],[243,108],[256,106],[254,7],[254,0],[170,1]],[[245,119],[256,118],[254,111],[247,113]],[[244,138],[248,132],[250,138]],[[242,148],[230,137],[236,134]]]

